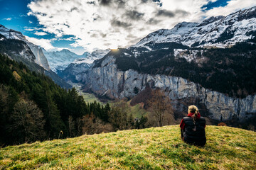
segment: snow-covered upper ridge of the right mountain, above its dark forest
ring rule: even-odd
[[[150,49],[152,44],[161,42],[179,42],[189,47],[226,47],[251,39],[256,31],[255,23],[256,6],[228,16],[210,17],[202,23],[178,23],[171,30],[150,33],[132,47]]]

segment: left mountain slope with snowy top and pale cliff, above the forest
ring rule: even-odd
[[[6,38],[5,35],[9,38]],[[0,26],[0,53],[8,55],[17,62],[23,62],[31,71],[48,75],[55,83],[65,89],[72,87],[50,70],[41,47],[28,42],[21,33],[9,30],[4,26]]]

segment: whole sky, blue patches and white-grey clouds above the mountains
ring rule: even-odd
[[[0,0],[0,24],[48,51],[129,47],[177,23],[256,6],[256,0]]]

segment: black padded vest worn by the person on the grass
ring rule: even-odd
[[[185,128],[181,131],[183,133],[184,142],[203,146],[206,145],[206,120],[204,118],[198,118],[196,120],[196,128],[191,117],[183,118]]]

